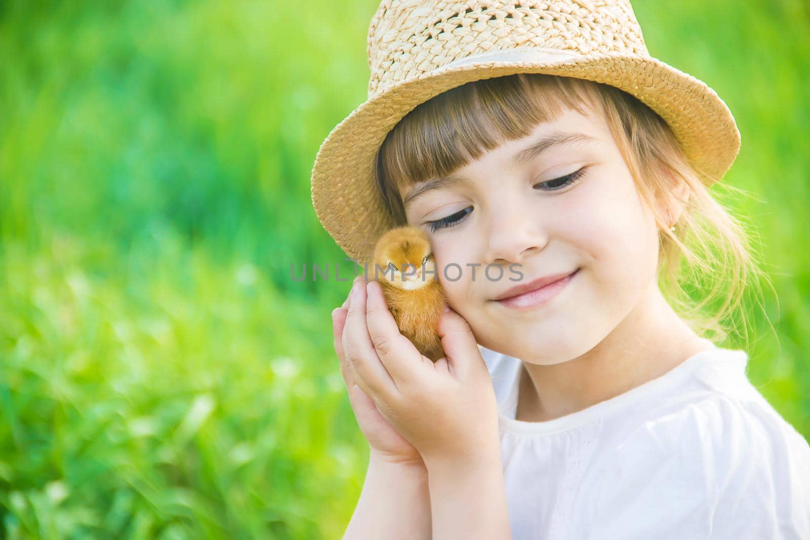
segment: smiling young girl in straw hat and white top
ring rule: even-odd
[[[620,1],[385,0],[369,66],[318,217],[358,261],[409,223],[463,271],[436,364],[377,283],[333,312],[371,449],[345,538],[810,538],[807,442],[704,337],[758,271],[708,190],[740,147],[714,91]],[[725,294],[664,296],[679,254]]]

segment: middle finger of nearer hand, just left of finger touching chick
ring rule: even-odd
[[[369,398],[397,393],[394,380],[382,365],[365,322],[365,287],[355,283],[343,326],[343,354],[355,374],[355,382]]]

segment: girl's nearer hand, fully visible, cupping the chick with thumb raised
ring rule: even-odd
[[[428,470],[434,464],[500,466],[497,401],[478,344],[450,308],[438,331],[446,356],[434,364],[399,333],[379,283],[359,280],[349,296],[343,358],[364,396]]]

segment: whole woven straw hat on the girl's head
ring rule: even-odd
[[[386,134],[417,105],[464,83],[541,73],[618,87],[667,121],[709,185],[740,150],[723,100],[650,56],[627,0],[383,0],[368,54],[369,98],[326,137],[312,172],[318,219],[361,264],[394,226],[375,172]]]

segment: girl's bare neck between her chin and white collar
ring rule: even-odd
[[[652,283],[633,311],[586,354],[549,366],[523,363],[517,419],[543,422],[569,415],[662,376],[711,347]]]

